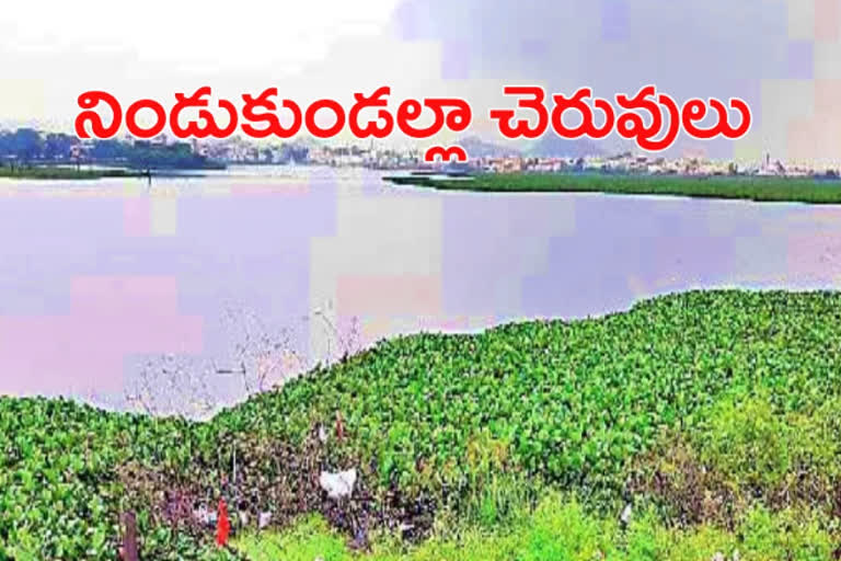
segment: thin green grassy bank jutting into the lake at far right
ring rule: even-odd
[[[615,193],[738,198],[758,202],[841,203],[841,182],[807,178],[607,175],[573,173],[482,174],[471,180],[388,178],[395,184],[485,193]]]

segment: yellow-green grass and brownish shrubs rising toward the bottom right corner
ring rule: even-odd
[[[515,502],[500,515],[500,499],[522,495],[519,482],[507,493],[486,490],[472,516],[441,517],[435,536],[414,547],[385,534],[360,554],[313,516],[281,533],[246,533],[238,547],[258,561],[838,559],[841,400],[808,413],[782,413],[772,401],[767,391],[733,392],[692,431],[661,438],[627,470],[635,502],[625,518],[545,488],[533,508]]]

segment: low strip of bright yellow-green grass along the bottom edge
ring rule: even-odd
[[[472,528],[458,538],[406,547],[383,537],[354,551],[319,517],[279,534],[249,535],[237,548],[254,561],[826,561],[834,542],[808,512],[751,510],[727,531],[711,525],[668,527],[654,511],[622,527],[588,514],[563,495],[548,495],[535,511],[497,530]]]

